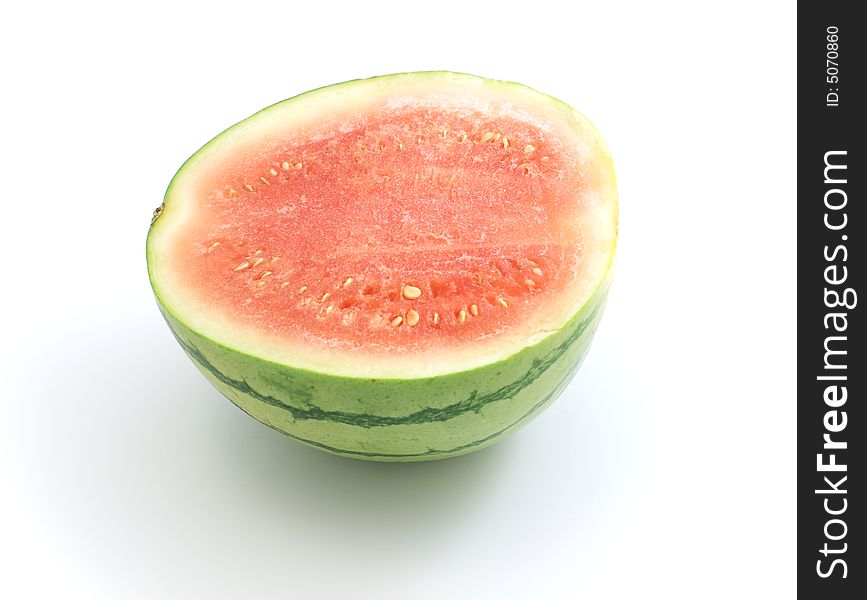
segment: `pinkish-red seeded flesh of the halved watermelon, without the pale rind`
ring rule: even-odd
[[[566,141],[511,115],[415,106],[276,137],[211,166],[165,252],[202,303],[288,344],[473,343],[581,279],[594,182]]]

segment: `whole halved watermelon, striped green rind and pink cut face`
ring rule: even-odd
[[[178,343],[304,444],[446,458],[528,422],[587,353],[611,280],[610,155],[515,83],[404,73],[301,94],[172,179],[147,240]]]

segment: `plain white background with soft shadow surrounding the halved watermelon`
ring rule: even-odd
[[[794,3],[2,13],[0,597],[794,596]],[[334,458],[199,375],[145,235],[228,125],[426,69],[595,122],[620,184],[615,287],[573,384],[507,441]]]

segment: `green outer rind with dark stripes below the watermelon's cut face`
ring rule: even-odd
[[[270,362],[186,327],[163,307],[184,351],[241,410],[310,446],[379,461],[418,461],[488,446],[537,415],[575,374],[608,280],[561,330],[500,362],[418,379],[340,377]]]

